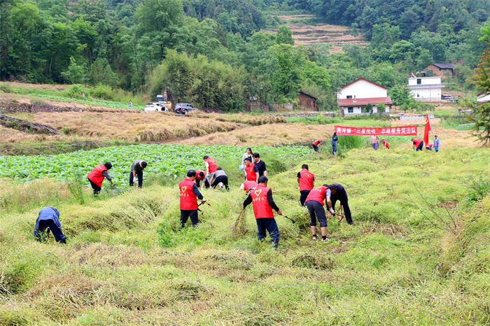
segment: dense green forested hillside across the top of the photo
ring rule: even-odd
[[[449,87],[470,87],[489,10],[489,0],[2,0],[0,80],[152,95],[168,87],[174,102],[223,111],[249,96],[283,103],[303,90],[328,109],[358,77],[393,87],[432,62],[457,63]],[[300,23],[344,24],[370,45],[331,55],[328,45],[293,45],[278,15],[298,12],[316,14]]]

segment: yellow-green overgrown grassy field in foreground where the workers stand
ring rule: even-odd
[[[490,154],[358,148],[269,164],[279,250],[256,240],[237,162],[232,191],[207,190],[201,225],[178,231],[173,181],[83,203],[73,185],[37,180],[0,190],[0,325],[485,325],[490,323]],[[296,173],[341,183],[355,225],[329,219],[311,241]],[[480,175],[479,178],[476,176]],[[6,193],[8,196],[6,197]],[[32,239],[56,206],[68,244]]]

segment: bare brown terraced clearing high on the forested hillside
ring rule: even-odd
[[[362,35],[351,35],[349,27],[329,24],[305,24],[308,20],[313,19],[314,15],[283,15],[278,17],[286,20],[286,26],[293,31],[295,44],[329,45],[330,53],[342,52],[342,46],[348,44],[369,45],[369,42],[363,40]],[[265,32],[275,33],[276,29],[265,30]]]

